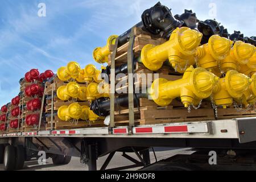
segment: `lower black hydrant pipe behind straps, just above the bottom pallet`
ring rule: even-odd
[[[134,106],[136,106],[137,100],[139,98],[147,98],[147,94],[134,94]],[[128,95],[119,96],[115,98],[115,106],[128,107]],[[106,97],[101,97],[92,102],[90,105],[90,110],[92,110],[98,116],[106,117],[110,114],[110,100]]]

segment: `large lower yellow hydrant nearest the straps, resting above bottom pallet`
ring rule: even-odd
[[[183,105],[189,107],[209,97],[219,79],[204,68],[191,66],[180,80],[156,79],[148,90],[148,94],[159,106],[170,105],[174,98],[180,97]]]

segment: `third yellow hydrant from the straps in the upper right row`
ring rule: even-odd
[[[237,41],[230,49],[229,55],[220,61],[222,71],[225,73],[229,70],[238,71],[240,69],[239,64],[247,64],[254,51],[253,45]]]

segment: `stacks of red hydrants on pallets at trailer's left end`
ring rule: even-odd
[[[24,127],[37,127],[39,123],[39,110],[42,109],[42,97],[44,92],[43,82],[53,76],[53,72],[47,70],[39,74],[38,69],[31,69],[25,77],[20,80],[20,93],[11,100],[11,103],[2,106],[3,122],[0,130],[23,130]]]

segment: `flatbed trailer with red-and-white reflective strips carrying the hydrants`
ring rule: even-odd
[[[6,146],[9,146],[9,149],[22,146],[24,152],[21,152],[21,155],[20,150],[15,150],[16,159],[22,158],[17,160],[21,161],[20,166],[23,166],[26,160],[39,158],[39,151],[45,151],[47,158],[55,158],[53,161],[55,164],[68,163],[70,156],[80,157],[82,162],[88,164],[89,170],[97,170],[97,159],[109,155],[101,167],[104,170],[115,152],[122,151],[123,156],[134,162],[134,165],[115,169],[147,167],[150,165],[149,149],[154,147],[191,147],[197,152],[204,151],[204,154],[208,154],[209,151],[216,151],[217,154],[224,154],[225,151],[226,154],[231,150],[235,157],[242,152],[243,157],[253,156],[254,159],[256,154],[255,121],[256,118],[252,117],[137,127],[31,131],[1,134],[0,144],[5,146],[5,149]],[[131,158],[126,152],[135,152],[139,160]],[[10,155],[8,150],[1,150],[0,153],[5,168],[16,169],[15,166],[10,167],[6,164]]]

